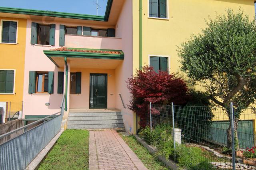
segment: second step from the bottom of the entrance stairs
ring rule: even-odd
[[[104,124],[120,124],[123,119],[116,120],[93,120],[93,121],[68,121],[67,125],[104,125]]]

